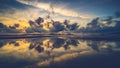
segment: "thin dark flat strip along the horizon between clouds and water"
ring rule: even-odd
[[[40,38],[40,37],[68,37],[80,39],[116,39],[119,40],[119,34],[112,33],[1,33],[0,39],[17,39],[17,38]]]

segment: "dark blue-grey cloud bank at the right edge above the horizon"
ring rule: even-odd
[[[83,33],[103,33],[103,34],[120,34],[120,17],[117,16],[119,20],[114,20],[116,17],[114,16],[108,16],[107,19],[101,20],[100,18],[93,19],[90,23],[87,24],[86,28],[82,28],[79,30],[79,32]],[[103,25],[101,22],[106,21]],[[110,26],[111,24],[115,24],[114,26]],[[116,35],[117,36],[117,35]]]

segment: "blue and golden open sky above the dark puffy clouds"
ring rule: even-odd
[[[51,9],[52,6],[52,9]],[[29,20],[46,18],[54,11],[52,19],[68,19],[86,26],[96,17],[106,17],[120,11],[119,0],[0,0],[0,22],[7,26],[15,23],[28,27]]]

